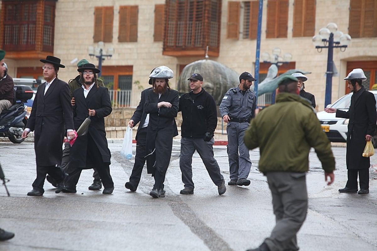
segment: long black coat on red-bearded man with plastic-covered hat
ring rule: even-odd
[[[166,101],[172,107],[157,108],[157,103]],[[147,171],[155,173],[157,169],[160,173],[166,172],[170,157],[172,155],[173,137],[178,135],[175,117],[179,108],[178,92],[167,89],[161,97],[153,89],[148,90],[147,99],[144,104],[144,111],[149,113],[149,124],[147,129]]]

